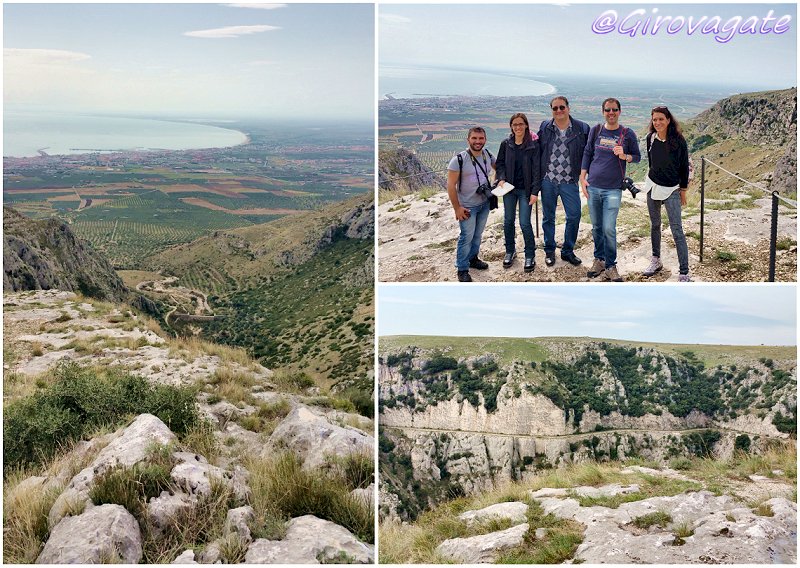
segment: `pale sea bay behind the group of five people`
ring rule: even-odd
[[[549,83],[520,74],[400,66],[381,66],[378,88],[383,99],[531,97],[556,90]]]

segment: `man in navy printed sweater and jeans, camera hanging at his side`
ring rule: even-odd
[[[601,108],[605,124],[598,124],[589,132],[579,180],[581,192],[589,200],[594,239],[594,263],[586,275],[594,278],[605,273],[612,282],[622,282],[617,270],[617,215],[622,191],[630,191],[633,185],[625,177],[625,168],[628,163],[638,162],[641,154],[636,133],[619,123],[620,102],[608,98]]]

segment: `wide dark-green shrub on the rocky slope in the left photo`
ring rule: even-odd
[[[154,414],[178,435],[198,421],[191,389],[154,385],[125,372],[101,376],[74,363],[59,365],[51,384],[6,406],[3,416],[4,474],[42,463],[62,445],[127,415]]]

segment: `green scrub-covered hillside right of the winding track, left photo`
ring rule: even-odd
[[[319,211],[219,231],[151,259],[203,290],[216,317],[178,331],[243,347],[269,367],[308,373],[372,396],[371,196]]]

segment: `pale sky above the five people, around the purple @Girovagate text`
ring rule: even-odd
[[[691,16],[697,21],[706,16],[708,21],[720,16],[724,24],[735,16],[743,22],[750,16],[763,18],[773,10],[774,17],[790,15],[792,20],[786,33],[737,35],[725,44],[700,31],[688,35],[686,28],[674,35],[635,37],[592,31],[605,11],[615,10],[619,21],[636,9],[645,11],[641,19]],[[559,73],[702,83],[750,91],[797,85],[796,4],[382,4],[378,13],[381,65],[494,69],[544,75],[545,80]]]

